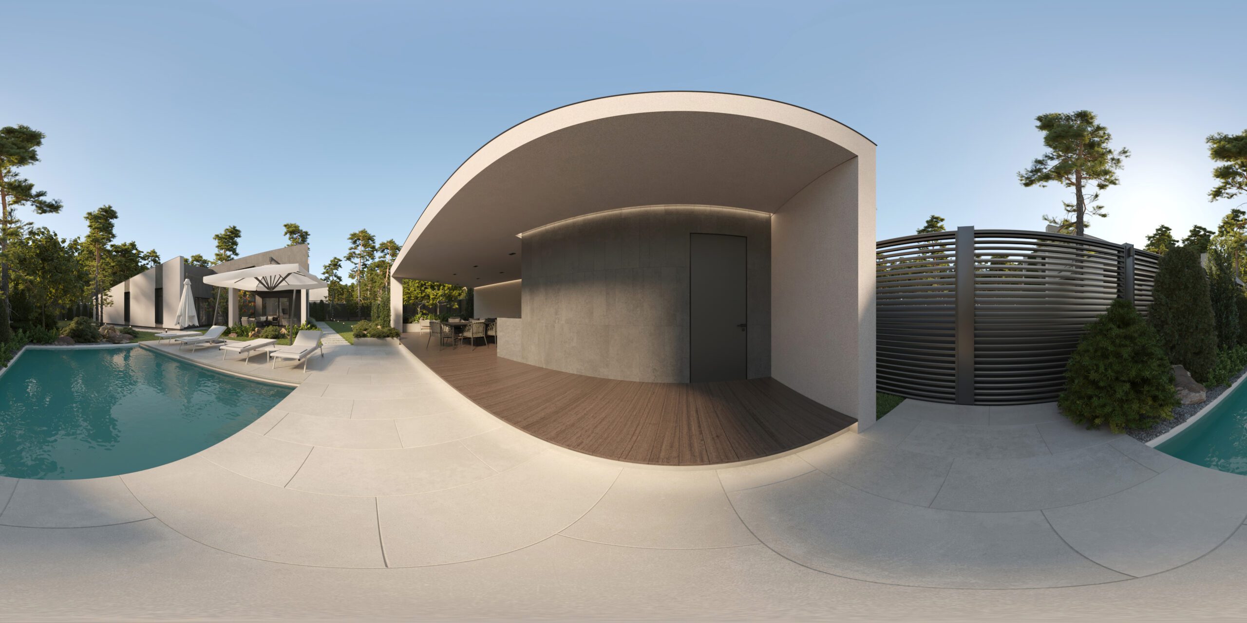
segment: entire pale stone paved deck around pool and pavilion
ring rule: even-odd
[[[172,346],[153,346],[175,350]],[[0,478],[0,618],[1185,619],[1247,614],[1247,477],[1054,405],[905,401],[738,466],[580,455],[398,345],[203,452]]]

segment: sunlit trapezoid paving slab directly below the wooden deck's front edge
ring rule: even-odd
[[[713,470],[625,468],[565,536],[627,547],[736,547],[749,533]]]

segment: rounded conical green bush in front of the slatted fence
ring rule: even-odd
[[[1112,432],[1173,416],[1172,366],[1156,330],[1132,304],[1117,299],[1087,325],[1066,365],[1057,405],[1075,424],[1107,425]]]

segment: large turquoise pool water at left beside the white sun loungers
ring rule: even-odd
[[[292,390],[145,348],[26,349],[0,375],[0,475],[95,478],[172,462]]]

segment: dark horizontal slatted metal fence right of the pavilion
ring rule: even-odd
[[[1055,400],[1089,321],[1117,297],[1146,314],[1160,259],[1095,238],[969,227],[882,240],[875,254],[879,390],[976,405]]]

